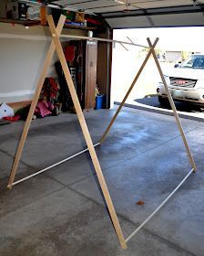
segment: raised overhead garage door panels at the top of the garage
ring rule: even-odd
[[[106,18],[112,28],[204,26],[204,0],[59,0]]]

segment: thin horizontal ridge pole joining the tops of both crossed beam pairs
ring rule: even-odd
[[[135,47],[139,47],[139,48],[149,48],[147,46],[138,45],[138,44],[131,43],[131,42],[111,40],[111,39],[106,39],[106,38],[101,38],[101,37],[83,37],[83,36],[73,36],[73,35],[60,35],[59,37],[69,38],[69,39],[74,38],[74,39],[101,41],[101,42],[107,42],[107,43],[118,43],[118,44],[125,44],[125,45],[135,46]]]

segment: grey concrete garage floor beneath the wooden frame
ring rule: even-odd
[[[115,110],[86,112],[95,143]],[[120,249],[88,154],[6,189],[23,122],[0,126],[0,255],[204,255],[203,123],[182,120],[198,165],[168,204]],[[17,177],[85,148],[74,114],[32,123]],[[189,173],[171,116],[124,108],[97,147],[118,218],[128,237]],[[138,200],[145,205],[138,206]]]

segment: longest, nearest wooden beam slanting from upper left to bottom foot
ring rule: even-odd
[[[124,236],[123,236],[122,229],[120,227],[119,221],[117,219],[116,210],[115,210],[115,208],[113,206],[112,199],[111,199],[111,197],[109,195],[109,192],[108,192],[108,189],[107,189],[107,183],[105,181],[105,178],[103,176],[103,173],[102,173],[99,161],[97,159],[97,153],[95,151],[93,142],[91,140],[91,136],[90,136],[90,133],[89,133],[88,128],[87,128],[87,123],[86,123],[84,114],[82,112],[80,103],[78,101],[78,97],[77,97],[77,94],[76,94],[75,86],[74,86],[73,80],[71,78],[71,75],[70,75],[70,72],[69,72],[69,69],[68,69],[68,66],[67,66],[67,63],[66,63],[66,58],[65,58],[65,54],[63,52],[63,48],[61,46],[59,37],[57,35],[57,31],[56,31],[56,27],[55,27],[55,24],[54,24],[53,17],[52,16],[48,16],[47,17],[47,21],[48,21],[48,25],[50,27],[50,31],[51,31],[53,40],[54,40],[55,45],[56,45],[56,52],[57,52],[58,58],[59,58],[59,60],[61,62],[62,69],[63,69],[65,77],[66,77],[67,87],[68,87],[68,89],[70,91],[70,94],[71,94],[71,97],[72,97],[72,101],[73,101],[75,109],[76,109],[76,114],[77,114],[77,117],[78,117],[78,121],[80,123],[82,132],[84,134],[84,137],[85,137],[85,140],[86,140],[86,143],[87,143],[87,148],[88,148],[89,154],[91,156],[93,165],[95,167],[100,187],[102,189],[103,195],[104,195],[105,200],[107,202],[107,208],[108,208],[110,217],[111,217],[111,219],[113,221],[113,225],[114,225],[114,227],[116,229],[116,232],[117,232],[117,238],[118,238],[118,240],[119,240],[119,242],[121,244],[121,247],[123,249],[126,249],[127,248],[127,244],[126,244],[126,241],[124,239]]]

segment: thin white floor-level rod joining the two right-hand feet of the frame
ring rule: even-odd
[[[148,223],[148,220],[150,220],[157,212],[160,208],[162,208],[168,201],[168,199],[170,197],[172,197],[176,192],[177,190],[179,189],[179,187],[188,179],[188,177],[191,175],[191,173],[194,171],[194,168],[192,168],[189,172],[189,174],[187,176],[185,176],[185,178],[179,183],[178,187],[176,187],[171,193],[170,195],[159,205],[159,207],[154,211],[152,212],[151,215],[149,215],[148,219],[146,219],[144,222],[142,222],[142,224],[138,227],[138,229],[136,229],[127,239],[126,239],[126,242],[128,242],[128,240],[130,240],[133,236],[135,236],[138,231],[140,229],[142,229],[147,223]]]

